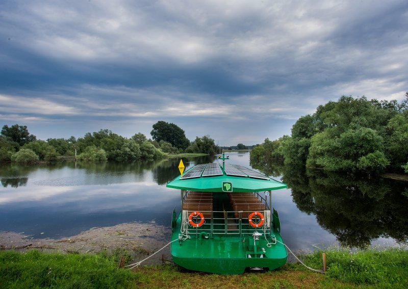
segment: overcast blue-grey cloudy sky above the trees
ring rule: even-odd
[[[157,121],[221,146],[341,95],[402,100],[408,1],[0,2],[0,125],[40,139]]]

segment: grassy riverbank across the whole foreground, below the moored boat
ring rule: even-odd
[[[118,269],[119,255],[0,251],[0,284],[5,288],[406,288],[408,250],[350,252],[330,249],[327,273],[299,264],[265,273],[216,275],[176,266]],[[321,252],[302,256],[321,269]]]

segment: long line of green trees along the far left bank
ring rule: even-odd
[[[159,121],[150,132],[152,139],[142,133],[130,138],[108,129],[86,133],[84,137],[48,138],[37,140],[27,126],[18,124],[3,126],[0,135],[0,161],[35,163],[75,158],[83,161],[120,162],[155,160],[167,154],[205,153],[215,154],[217,147],[209,135],[190,141],[184,130],[172,123]]]

